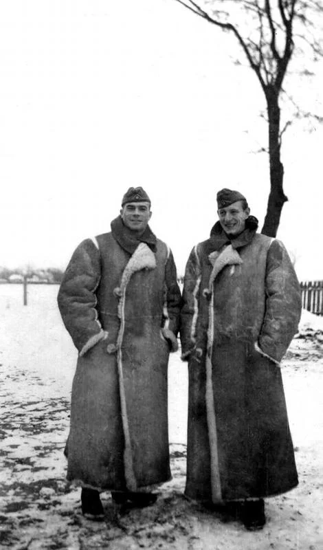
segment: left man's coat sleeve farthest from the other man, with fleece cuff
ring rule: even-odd
[[[80,355],[107,336],[96,309],[100,276],[100,253],[93,241],[87,239],[71,257],[58,292],[60,314]]]

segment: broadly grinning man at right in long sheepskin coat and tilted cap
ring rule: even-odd
[[[280,360],[297,331],[300,288],[284,245],[256,232],[238,191],[188,259],[181,318],[189,362],[186,495],[236,503],[247,529],[263,497],[298,484]]]

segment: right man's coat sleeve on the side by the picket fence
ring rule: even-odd
[[[298,331],[302,311],[298,278],[280,241],[273,241],[268,251],[265,289],[265,318],[258,345],[274,362],[280,362]]]

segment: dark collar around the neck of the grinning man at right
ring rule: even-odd
[[[232,248],[241,248],[254,239],[257,228],[258,219],[249,216],[245,221],[245,230],[236,236],[230,237],[223,231],[221,223],[216,221],[211,229],[210,239],[206,243],[206,253],[210,254],[214,250],[220,250],[223,246],[230,244]]]

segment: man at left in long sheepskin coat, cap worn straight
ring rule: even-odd
[[[100,491],[118,503],[170,478],[167,366],[177,349],[180,292],[168,246],[149,228],[151,201],[129,188],[111,232],[74,252],[58,293],[79,351],[71,394],[67,478],[82,512],[102,518]]]

